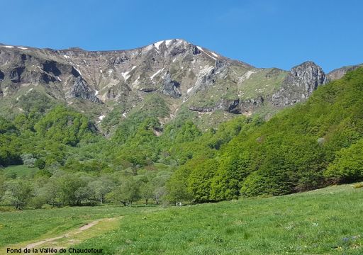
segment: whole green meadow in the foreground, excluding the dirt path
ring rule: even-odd
[[[78,248],[103,254],[363,254],[363,188],[182,207],[99,206],[0,212],[0,246],[123,216]]]

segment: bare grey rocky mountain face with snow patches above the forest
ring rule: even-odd
[[[185,40],[163,40],[134,50],[85,51],[0,45],[0,107],[24,111],[23,97],[43,95],[100,122],[119,109],[127,118],[158,96],[171,120],[181,108],[202,113],[272,113],[304,101],[340,72],[324,74],[313,62],[290,72],[230,60]]]

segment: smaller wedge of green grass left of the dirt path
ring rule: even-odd
[[[92,220],[138,214],[159,208],[97,206],[0,212],[0,247],[25,241],[56,237]],[[1,249],[0,249],[1,254]]]

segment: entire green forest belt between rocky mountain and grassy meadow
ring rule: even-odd
[[[363,179],[363,68],[268,121],[241,115],[203,131],[187,109],[162,125],[169,110],[157,96],[123,120],[111,112],[107,137],[72,108],[26,102],[0,117],[0,205],[203,203]],[[37,171],[6,172],[21,164]]]

